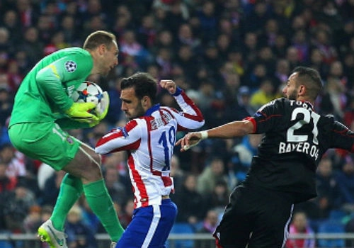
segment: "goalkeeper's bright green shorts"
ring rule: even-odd
[[[74,159],[81,144],[57,123],[18,123],[11,126],[8,135],[18,151],[56,171]]]

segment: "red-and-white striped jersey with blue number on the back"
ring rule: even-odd
[[[173,97],[181,111],[157,104],[144,116],[110,131],[96,144],[99,154],[127,151],[135,208],[160,205],[161,196],[173,192],[170,163],[176,132],[204,125],[202,113],[184,91],[178,88]]]

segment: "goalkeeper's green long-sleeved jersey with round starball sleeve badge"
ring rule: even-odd
[[[62,128],[85,128],[64,112],[72,106],[72,92],[91,73],[93,59],[79,47],[44,57],[23,79],[15,97],[10,126],[56,121]]]

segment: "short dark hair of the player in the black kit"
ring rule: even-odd
[[[297,73],[296,84],[306,86],[308,96],[316,99],[323,88],[319,72],[310,67],[295,67],[292,73],[295,72]]]

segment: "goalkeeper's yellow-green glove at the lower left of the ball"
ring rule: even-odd
[[[93,123],[99,120],[96,115],[89,113],[93,108],[96,107],[96,103],[73,103],[72,106],[65,111],[69,117],[77,120],[81,123]]]

